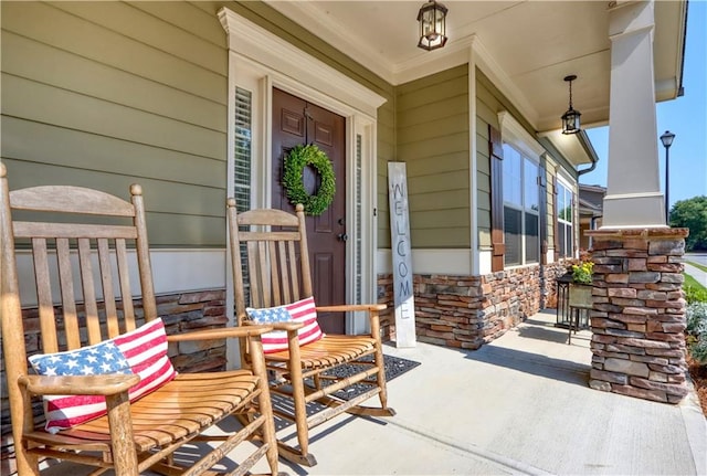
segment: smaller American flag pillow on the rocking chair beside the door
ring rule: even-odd
[[[304,326],[297,330],[297,338],[299,339],[300,346],[314,342],[323,337],[319,322],[317,322],[317,309],[315,308],[314,297],[307,297],[306,299],[284,306],[261,309],[249,307],[245,310],[256,324],[304,322]],[[274,330],[261,337],[263,340],[263,352],[273,353],[287,350],[286,330]]]

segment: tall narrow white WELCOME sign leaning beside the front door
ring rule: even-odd
[[[395,297],[395,347],[415,347],[415,302],[405,162],[388,162],[388,200]]]

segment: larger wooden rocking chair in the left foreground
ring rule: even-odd
[[[262,457],[266,457],[270,469],[276,474],[277,445],[260,340],[260,335],[268,328],[209,329],[165,338],[163,325],[157,316],[140,187],[130,188],[131,202],[127,202],[78,187],[34,187],[10,192],[6,176],[6,168],[0,165],[2,346],[20,476],[39,475],[39,465],[44,458],[94,466],[94,475],[108,468],[118,476],[136,476],[148,468],[169,475],[215,474],[210,468],[245,440],[254,440],[257,444],[240,464],[231,462],[226,466],[233,472],[229,474],[246,474]],[[38,211],[40,213],[35,213]],[[61,222],[40,221],[48,216]],[[118,224],[115,224],[116,220]],[[135,295],[128,279],[128,263],[134,261],[126,243],[130,246],[135,243],[137,254],[139,290],[135,295],[141,295],[141,300],[136,302],[135,308]],[[21,269],[18,258],[22,261],[25,254],[31,254],[32,258],[23,263],[34,263],[33,273],[28,274],[33,274],[35,289],[25,286],[28,282],[18,276],[18,269]],[[56,282],[52,283],[52,279]],[[31,296],[35,293],[39,319],[36,315],[23,318],[20,284],[24,299],[28,296],[33,299]],[[138,327],[143,318],[147,324]],[[156,337],[149,345],[140,341],[140,352],[163,349],[159,355],[160,366],[171,369],[171,374],[169,371],[163,373],[165,382],[154,380],[158,384],[151,388],[151,393],[133,398],[134,385],[138,382],[148,384],[158,374],[148,370],[149,374],[144,374],[146,378],[138,377],[138,364],[133,367],[131,359],[143,358],[144,353],[135,357],[130,352],[137,347],[131,350],[126,347],[137,342],[130,340],[134,337],[143,338],[139,331],[146,326],[150,332],[161,327],[162,334],[156,332],[155,336],[161,337]],[[42,357],[28,356],[25,337],[31,347],[40,347],[46,352],[43,357],[46,359],[87,359],[88,352],[103,351],[109,346],[110,351],[115,347],[123,352],[113,357],[125,358],[130,367],[118,373],[55,377],[55,368],[49,366],[52,369],[46,374],[32,373],[28,371],[28,357],[33,367],[42,360],[32,359]],[[247,340],[252,352],[250,369],[175,377],[165,340],[234,337]],[[160,342],[159,346],[156,342]],[[59,351],[71,353],[57,355]],[[101,363],[114,361],[104,358],[104,353],[101,356]],[[48,413],[56,419],[53,423],[48,421],[45,429],[49,430],[35,427],[32,400],[36,395],[45,399],[48,411],[59,405],[60,400],[72,402],[59,415]],[[107,414],[93,419],[87,412],[88,415],[82,415],[87,421],[62,429],[62,422],[72,422],[74,417],[81,420],[73,412],[88,409],[85,399],[103,405],[104,414],[107,406]],[[74,404],[76,406],[71,406]],[[232,415],[247,415],[247,426],[225,435],[223,432],[203,434],[204,430]],[[50,427],[54,424],[56,426]],[[190,458],[198,459],[196,462],[176,465],[175,453],[178,452],[181,458],[187,453],[194,453],[193,448],[187,449],[183,445],[198,441],[219,444],[215,448],[203,445],[213,451],[203,457]]]

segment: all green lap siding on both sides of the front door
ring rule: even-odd
[[[393,86],[258,1],[1,2],[1,157],[13,189],[46,183],[146,190],[151,243],[225,246],[229,7],[383,96],[378,245],[390,246],[388,170],[407,162],[415,248],[471,246],[475,202],[489,240],[487,128],[516,113],[476,72],[471,197],[466,64]],[[517,117],[517,114],[514,114]],[[193,230],[191,230],[193,229]]]

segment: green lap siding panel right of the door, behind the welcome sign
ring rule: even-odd
[[[467,65],[398,86],[395,110],[397,160],[407,163],[412,246],[468,247]]]

